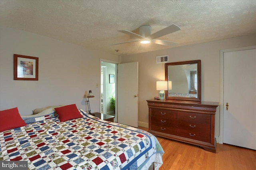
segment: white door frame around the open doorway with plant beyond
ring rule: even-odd
[[[118,64],[120,64],[120,62],[118,62],[118,61],[112,61],[112,60],[108,60],[108,59],[102,59],[102,58],[100,58],[100,77],[99,77],[99,79],[100,79],[100,85],[101,85],[101,62],[106,62],[106,63],[113,63],[113,64],[116,64],[116,73],[115,73],[115,93],[116,93],[116,110],[115,110],[115,119],[116,120],[118,120],[118,110],[117,110],[117,98],[118,98],[118,90],[117,90],[117,82],[118,82],[118,76],[117,76],[117,65]],[[100,90],[100,94],[101,94],[101,89],[99,89]],[[99,94],[99,97],[100,97],[100,94]],[[99,106],[101,107],[101,101],[100,101],[100,104],[99,104]]]

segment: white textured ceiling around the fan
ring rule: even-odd
[[[0,0],[0,26],[125,55],[170,48],[132,41],[117,30],[151,33],[176,24],[158,39],[172,47],[256,34],[255,0]],[[139,48],[140,47],[140,48]],[[115,50],[119,51],[116,52]]]

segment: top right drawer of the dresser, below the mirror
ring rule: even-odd
[[[178,111],[178,120],[182,121],[192,121],[198,123],[211,123],[211,115],[210,114],[202,114],[202,113],[190,113],[190,112],[181,112]]]

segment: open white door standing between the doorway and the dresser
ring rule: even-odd
[[[138,62],[118,64],[118,123],[138,127]]]

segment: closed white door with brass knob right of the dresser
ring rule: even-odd
[[[224,53],[223,101],[223,143],[256,150],[256,49]]]

